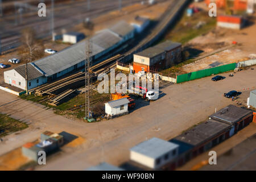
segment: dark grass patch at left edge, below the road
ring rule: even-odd
[[[26,129],[27,127],[26,123],[10,118],[6,114],[0,114],[0,137]]]

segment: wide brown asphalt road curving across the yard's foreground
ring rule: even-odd
[[[56,115],[42,105],[20,100],[0,90],[0,112],[31,122],[28,129],[3,138],[0,155],[40,137],[45,130],[67,131],[84,137],[86,142],[68,152],[51,157],[38,169],[85,169],[100,162],[121,164],[129,159],[129,148],[151,137],[171,139],[189,127],[204,121],[215,110],[234,102],[223,97],[229,90],[255,89],[254,70],[238,72],[234,77],[213,82],[210,77],[167,86],[162,97],[137,108],[129,115],[97,123],[83,123]],[[158,129],[159,128],[159,129]],[[158,130],[157,130],[158,129]],[[72,165],[71,165],[72,164]]]

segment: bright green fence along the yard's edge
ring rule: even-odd
[[[197,72],[191,72],[191,73],[186,73],[183,75],[178,75],[177,83],[181,83],[181,82],[189,81],[189,80],[195,80],[195,79],[203,78],[206,76],[211,76],[212,74],[223,73],[226,71],[234,70],[235,68],[236,68],[236,63],[231,63],[231,64],[222,65],[220,67],[203,69],[203,70],[200,70]]]

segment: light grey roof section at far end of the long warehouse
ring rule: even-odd
[[[119,36],[126,36],[130,32],[134,31],[134,27],[122,20],[110,27],[109,30],[115,32]]]

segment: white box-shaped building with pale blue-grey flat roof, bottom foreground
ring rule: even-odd
[[[178,155],[179,145],[151,138],[130,149],[130,159],[151,169],[159,169]]]

